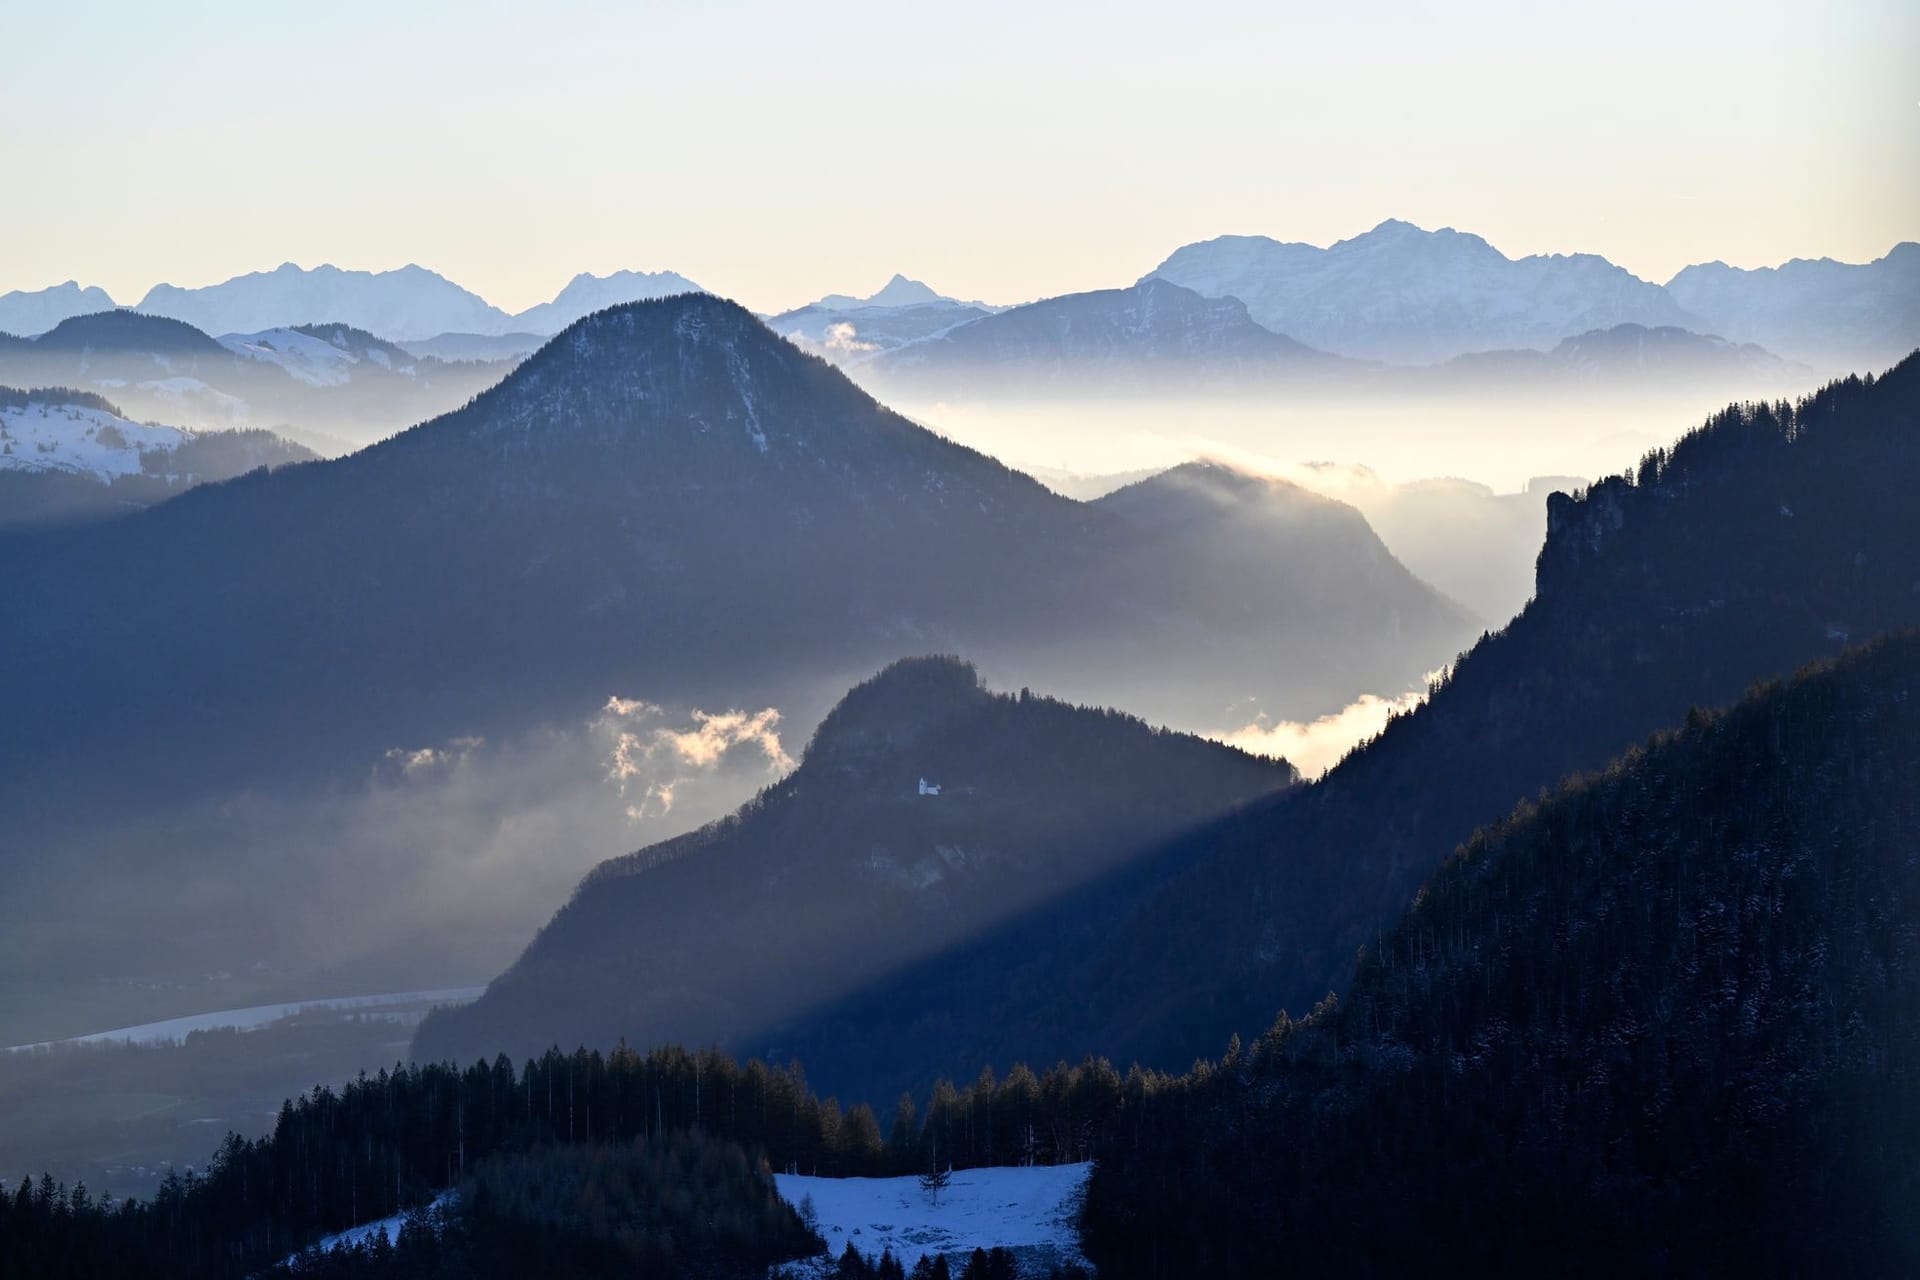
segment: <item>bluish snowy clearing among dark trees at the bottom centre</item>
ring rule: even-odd
[[[851,1240],[860,1253],[891,1249],[906,1267],[924,1253],[966,1261],[973,1249],[1027,1251],[1041,1270],[1079,1263],[1073,1228],[1092,1165],[1033,1169],[956,1169],[931,1203],[920,1178],[810,1178],[774,1174],[780,1194],[799,1207],[812,1197],[831,1257]]]

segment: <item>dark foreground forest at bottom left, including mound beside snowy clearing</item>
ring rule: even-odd
[[[941,1080],[924,1105],[902,1096],[883,1130],[872,1107],[818,1098],[797,1065],[714,1050],[399,1065],[290,1100],[271,1134],[228,1136],[152,1201],[23,1180],[0,1194],[0,1278],[246,1276],[444,1188],[453,1203],[392,1255],[309,1257],[301,1270],[764,1276],[768,1261],[818,1247],[772,1197],[768,1169],[900,1176],[935,1151],[954,1169],[1085,1161],[1162,1084],[1104,1061],[1016,1067]],[[541,1249],[568,1267],[543,1272]]]

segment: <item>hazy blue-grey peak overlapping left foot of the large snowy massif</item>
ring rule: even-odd
[[[1010,307],[876,355],[879,388],[920,395],[1131,386],[1248,388],[1325,374],[1342,361],[1256,324],[1233,297],[1146,278],[1123,290]]]

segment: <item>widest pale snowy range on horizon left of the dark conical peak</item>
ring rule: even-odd
[[[513,317],[424,267],[311,271],[282,263],[205,288],[156,284],[140,311],[186,320],[209,334],[255,334],[332,320],[388,340],[434,334],[503,334]]]

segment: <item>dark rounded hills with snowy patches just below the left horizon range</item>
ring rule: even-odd
[[[509,368],[419,359],[338,322],[215,342],[138,311],[83,315],[35,340],[0,342],[0,384],[96,390],[138,418],[265,426],[324,453],[461,405]]]

